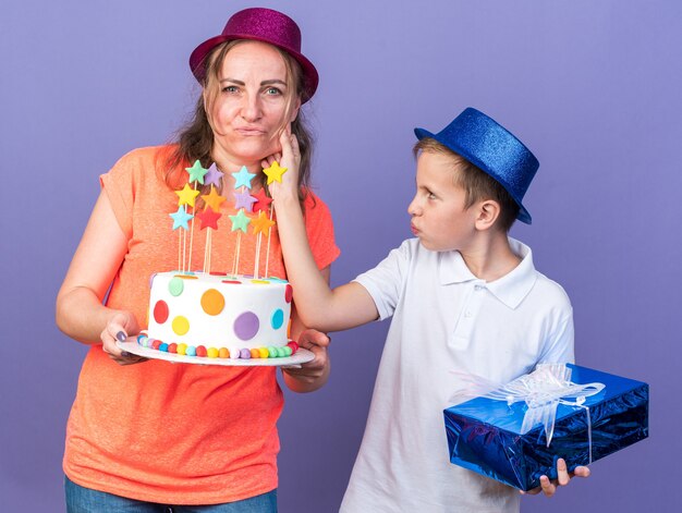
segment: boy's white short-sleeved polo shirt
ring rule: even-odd
[[[573,362],[573,310],[535,270],[531,248],[487,283],[459,252],[411,239],[356,278],[393,316],[343,513],[513,512],[519,491],[450,463],[442,411],[460,388],[452,370],[508,382],[539,362]]]

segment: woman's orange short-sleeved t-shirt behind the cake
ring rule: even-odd
[[[100,182],[121,229],[127,254],[117,273],[108,306],[132,312],[147,326],[149,278],[179,268],[182,229],[169,213],[178,195],[162,181],[159,156],[168,147],[125,155]],[[211,271],[232,271],[238,233],[229,215],[234,199],[224,193],[214,230]],[[226,206],[229,204],[229,206]],[[339,255],[331,216],[312,193],[305,200],[308,240],[318,267]],[[207,230],[192,241],[192,269],[204,268]],[[239,273],[254,272],[256,237],[241,235]],[[260,272],[265,273],[266,243]],[[188,259],[188,255],[186,257]],[[285,278],[277,230],[271,231],[269,276]],[[120,366],[93,345],[87,353],[66,428],[64,472],[71,480],[149,502],[215,504],[277,488],[277,419],[283,395],[272,367],[179,365],[148,361]]]

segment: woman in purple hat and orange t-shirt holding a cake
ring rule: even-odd
[[[229,197],[231,173],[246,166],[257,175],[252,193],[258,193],[261,163],[279,155],[283,131],[302,146],[301,200],[329,279],[339,251],[327,207],[305,187],[310,139],[300,117],[318,77],[300,46],[299,27],[282,13],[234,14],[221,35],[192,53],[203,91],[178,144],[134,150],[100,179],[102,192],[57,298],[59,328],[92,344],[66,432],[70,512],[277,511],[276,423],[283,396],[276,370],[144,361],[121,352],[115,340],[145,323],[149,276],[178,268],[168,215],[178,206],[174,191],[186,183],[184,169],[197,159],[205,168],[215,163]],[[227,218],[212,233],[214,248],[234,247],[235,232],[220,224]],[[194,239],[195,262],[204,241]],[[254,260],[253,248],[242,247],[239,272],[253,270]],[[232,264],[232,254],[214,251],[214,269]],[[284,276],[276,234],[269,266],[272,276]],[[316,390],[329,374],[328,339],[304,330],[295,312],[291,335],[315,359],[284,370],[284,382],[299,392]]]

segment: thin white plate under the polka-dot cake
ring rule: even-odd
[[[117,341],[117,345],[123,351],[144,356],[145,358],[165,359],[175,364],[196,365],[223,365],[229,367],[301,367],[301,364],[315,358],[312,351],[299,347],[291,356],[279,358],[209,358],[208,356],[187,356],[183,354],[167,353],[165,351],[153,350],[137,343],[136,338],[127,338],[125,342]]]

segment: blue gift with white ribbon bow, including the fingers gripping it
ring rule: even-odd
[[[444,411],[451,462],[522,493],[551,497],[589,476],[586,465],[648,436],[641,381],[571,364],[538,364],[507,384],[458,379],[459,404]]]

